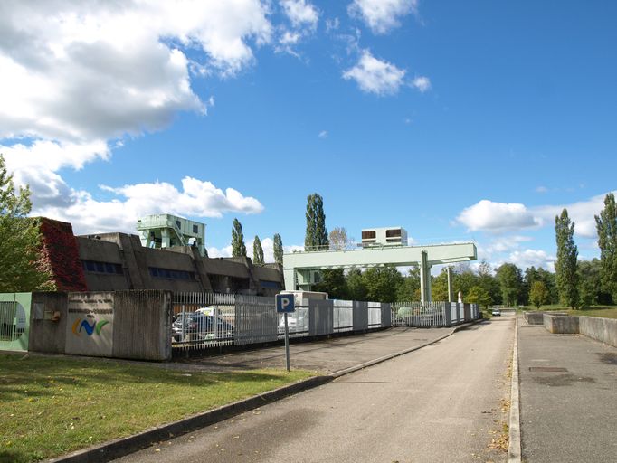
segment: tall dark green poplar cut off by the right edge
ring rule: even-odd
[[[598,231],[598,247],[602,262],[603,290],[617,302],[617,207],[615,196],[609,193],[604,198],[604,209],[595,216]]]

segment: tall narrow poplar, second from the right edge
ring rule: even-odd
[[[570,221],[566,209],[561,215],[555,216],[555,237],[557,241],[555,274],[559,299],[566,306],[576,308],[579,305],[579,277],[576,271],[578,249],[574,244],[574,222]]]

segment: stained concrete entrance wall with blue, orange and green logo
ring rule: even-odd
[[[52,354],[171,358],[171,293],[33,293],[28,348]],[[55,317],[54,317],[55,315]]]

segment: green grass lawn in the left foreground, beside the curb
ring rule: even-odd
[[[0,354],[0,462],[62,455],[313,374],[200,373],[108,359]]]

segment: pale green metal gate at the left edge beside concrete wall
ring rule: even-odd
[[[0,294],[0,350],[27,351],[32,293]]]

